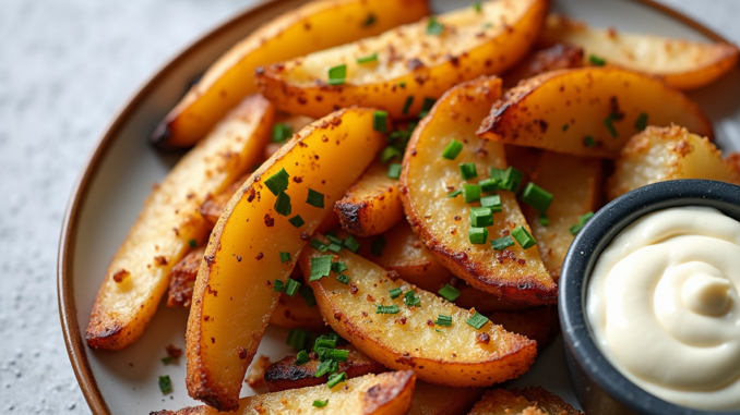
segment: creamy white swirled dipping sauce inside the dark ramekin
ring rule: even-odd
[[[645,215],[601,253],[586,314],[601,352],[668,402],[740,410],[740,222],[707,207]]]

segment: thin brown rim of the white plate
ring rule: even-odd
[[[657,3],[654,0],[631,1],[642,3],[676,19],[714,41],[730,44],[730,41],[714,30],[667,5]],[[77,313],[76,305],[74,304],[74,288],[72,286],[72,279],[69,278],[72,274],[73,246],[76,239],[79,213],[83,200],[89,191],[93,176],[97,172],[100,161],[110,147],[114,137],[119,134],[121,127],[129,121],[134,110],[140,106],[141,101],[150,95],[151,89],[154,88],[155,85],[166,78],[182,60],[194,53],[196,50],[205,47],[212,39],[220,36],[224,32],[227,32],[232,27],[242,24],[243,21],[253,19],[255,14],[267,11],[279,2],[281,0],[267,0],[259,5],[244,10],[202,36],[195,42],[186,47],[180,53],[175,56],[175,58],[155,72],[155,74],[140,87],[139,91],[129,99],[128,103],[118,110],[112,118],[112,121],[108,123],[108,126],[104,130],[95,148],[88,156],[84,171],[72,187],[72,196],[67,205],[64,221],[62,222],[61,235],[59,239],[59,256],[57,259],[59,318],[61,320],[62,335],[64,337],[64,344],[67,345],[67,353],[70,357],[72,369],[77,378],[77,383],[80,383],[82,394],[85,396],[87,405],[95,415],[109,415],[110,410],[103,398],[103,393],[100,393],[100,390],[98,389],[97,381],[95,380],[89,362],[87,361],[86,344],[81,335],[80,324],[76,318]]]

